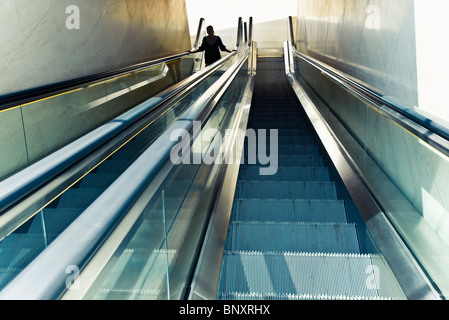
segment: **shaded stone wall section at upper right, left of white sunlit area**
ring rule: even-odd
[[[417,106],[414,15],[414,0],[299,0],[297,48]]]

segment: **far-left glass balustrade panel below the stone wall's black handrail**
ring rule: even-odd
[[[2,157],[0,179],[186,79],[200,70],[201,57],[201,53],[185,56],[2,111],[5,119],[20,112],[22,119],[9,120],[8,132],[23,135],[24,141],[0,140],[1,150],[15,150]]]

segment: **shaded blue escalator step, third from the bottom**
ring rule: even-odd
[[[341,200],[235,200],[238,221],[347,223]]]

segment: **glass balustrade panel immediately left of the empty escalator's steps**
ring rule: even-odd
[[[202,132],[213,129],[215,135],[205,137],[200,149],[192,147],[188,159],[173,167],[85,299],[183,298],[224,164],[196,162],[194,153],[200,152],[202,159],[211,153],[224,157],[215,153],[212,141],[223,138],[234,121],[247,74],[245,65],[202,125]]]

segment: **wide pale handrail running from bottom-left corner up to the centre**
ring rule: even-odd
[[[239,22],[240,24],[240,22]],[[239,34],[241,36],[241,33]],[[207,69],[226,62],[233,52]],[[34,259],[6,288],[0,299],[56,299],[64,290],[67,266],[82,266],[102,243],[118,220],[140,196],[158,170],[168,161],[177,141],[170,141],[174,130],[189,131],[193,122],[204,117],[216,95],[233,78],[247,58],[248,51],[214,83],[195,104],[175,121],[106,191],[100,195],[61,235]],[[210,110],[209,110],[210,112]],[[168,143],[167,143],[168,142]],[[104,210],[107,207],[108,210]],[[79,236],[83,235],[82,241]],[[81,269],[81,268],[80,268]],[[45,274],[45,276],[43,276]],[[30,279],[33,279],[30,283]]]

